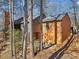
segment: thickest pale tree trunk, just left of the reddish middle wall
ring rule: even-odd
[[[33,0],[27,0],[28,5],[28,21],[30,30],[30,59],[34,59],[34,40],[33,40]]]

